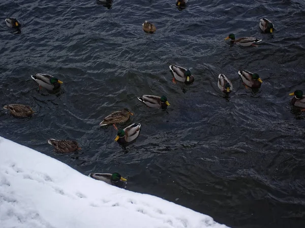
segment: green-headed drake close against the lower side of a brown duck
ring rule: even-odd
[[[119,144],[130,143],[139,136],[140,129],[141,124],[131,124],[123,130],[118,130],[117,136],[114,140],[117,141]]]

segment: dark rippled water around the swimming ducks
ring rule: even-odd
[[[0,2],[1,105],[31,105],[16,119],[0,112],[0,133],[67,163],[79,172],[119,172],[128,189],[212,216],[231,227],[305,227],[304,118],[289,93],[305,92],[304,1],[114,0]],[[110,6],[108,6],[110,8]],[[23,23],[13,35],[6,17]],[[275,24],[261,34],[258,21]],[[142,31],[144,20],[157,27]],[[228,34],[263,39],[230,47]],[[169,65],[192,67],[195,83],[173,84]],[[237,71],[260,74],[258,92]],[[64,81],[58,94],[38,91],[30,78]],[[233,83],[226,98],[219,73]],[[136,97],[166,95],[167,110]],[[103,117],[123,107],[140,122],[136,143],[123,150]],[[128,125],[128,124],[127,124]],[[124,125],[124,126],[127,126]],[[80,153],[60,155],[49,138],[78,140]]]

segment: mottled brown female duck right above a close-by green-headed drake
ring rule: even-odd
[[[100,123],[100,126],[106,126],[112,124],[113,127],[117,130],[115,124],[123,124],[127,122],[130,116],[133,116],[132,113],[128,108],[123,108],[120,111],[114,111],[110,115],[104,118],[104,120]]]

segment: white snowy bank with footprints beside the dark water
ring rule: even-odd
[[[227,227],[211,217],[84,176],[0,137],[0,227]]]

